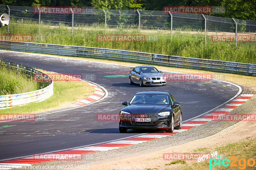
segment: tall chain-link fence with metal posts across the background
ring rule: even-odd
[[[76,34],[92,30],[101,34],[182,35],[207,42],[256,42],[256,21],[221,18],[204,14],[164,13],[163,11],[109,10],[82,7],[81,13],[36,13],[41,7],[0,5],[0,12],[10,15],[8,34],[31,34],[33,42],[44,42],[48,36],[68,30]],[[67,7],[68,8],[68,7]],[[72,11],[72,10],[71,10]],[[28,25],[29,29],[28,29]],[[45,26],[54,28],[49,32]],[[14,28],[16,27],[16,28]],[[247,37],[243,41],[239,36]],[[220,36],[220,37],[218,37]],[[227,36],[234,38],[232,41]],[[254,37],[254,38],[253,38]],[[224,38],[224,40],[223,40]],[[229,37],[230,38],[230,37]],[[240,38],[240,40],[239,40]]]

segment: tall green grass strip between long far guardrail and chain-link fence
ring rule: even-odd
[[[7,34],[7,27],[1,28],[1,34]],[[204,32],[195,31],[173,31],[171,41],[170,30],[144,30],[141,34],[156,35],[157,42],[98,42],[96,36],[104,34],[103,25],[80,26],[74,25],[72,36],[71,26],[63,24],[55,26],[52,23],[43,22],[38,36],[38,23],[34,21],[23,21],[20,23],[10,22],[10,34],[32,34],[33,42],[62,44],[74,46],[88,46],[100,48],[112,48],[131,50],[148,53],[177,55],[183,57],[194,57],[212,60],[225,60],[242,63],[256,64],[256,43],[216,43],[211,41],[211,35],[207,36],[204,44]],[[109,27],[107,34],[138,34],[138,29],[128,27]],[[209,33],[210,34],[210,33]]]

